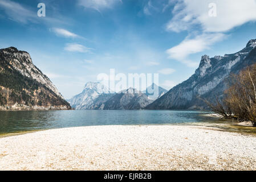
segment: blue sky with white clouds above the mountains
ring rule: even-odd
[[[111,68],[159,73],[170,89],[202,55],[234,53],[255,39],[255,20],[255,0],[0,0],[0,47],[29,52],[65,98]]]

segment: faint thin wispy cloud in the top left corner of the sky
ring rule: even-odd
[[[62,20],[46,17],[38,17],[37,9],[31,10],[29,7],[10,0],[1,0],[0,7],[9,19],[19,23],[63,23]]]

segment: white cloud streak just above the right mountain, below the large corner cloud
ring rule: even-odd
[[[169,59],[175,59],[188,65],[188,67],[197,67],[198,63],[188,59],[188,56],[193,53],[205,51],[212,44],[225,38],[225,34],[202,34],[197,35],[193,39],[186,38],[178,46],[172,47],[166,51]]]

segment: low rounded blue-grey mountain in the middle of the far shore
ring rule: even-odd
[[[139,110],[150,104],[152,101],[148,96],[136,89],[129,88],[115,94],[105,102],[104,110]]]

